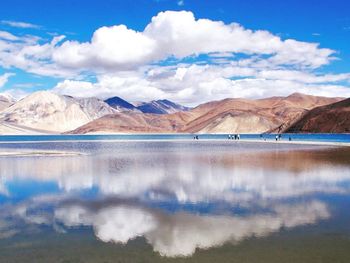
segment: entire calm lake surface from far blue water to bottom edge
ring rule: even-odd
[[[74,153],[0,157],[0,262],[350,262],[350,147],[220,136],[0,137]]]

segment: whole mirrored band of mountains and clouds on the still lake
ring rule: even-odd
[[[142,236],[161,255],[189,256],[329,218],[317,194],[349,193],[348,151],[341,151],[0,158],[0,238],[43,225],[58,232],[87,226],[104,242]],[[16,197],[16,186],[28,182],[58,190]],[[202,213],[203,204],[224,206]]]

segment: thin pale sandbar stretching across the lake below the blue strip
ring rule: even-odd
[[[101,135],[101,134],[100,134]],[[110,134],[109,134],[110,135]],[[199,135],[200,137],[200,135]],[[302,140],[281,140],[275,141],[272,139],[240,139],[239,141],[231,141],[228,139],[200,139],[200,142],[227,142],[229,143],[273,143],[273,144],[290,144],[290,145],[310,145],[310,146],[344,146],[350,147],[350,142],[327,142],[327,141],[302,141]],[[0,141],[1,144],[33,144],[33,143],[84,143],[84,142],[193,142],[193,139],[93,139],[93,140],[38,140],[38,141]]]

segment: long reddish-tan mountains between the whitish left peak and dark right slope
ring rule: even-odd
[[[289,127],[308,110],[334,103],[326,98],[294,93],[267,99],[225,99],[174,114],[116,113],[71,133],[262,133]]]

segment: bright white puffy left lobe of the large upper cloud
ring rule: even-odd
[[[64,42],[53,60],[72,68],[129,68],[152,60],[157,49],[153,39],[126,26],[101,27],[90,43]]]

